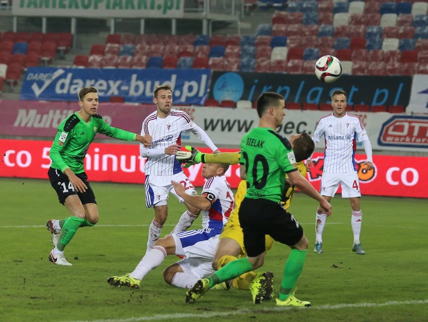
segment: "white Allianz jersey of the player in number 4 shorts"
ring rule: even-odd
[[[355,166],[356,140],[369,139],[358,115],[346,113],[343,117],[332,114],[319,119],[312,140],[318,143],[324,135],[324,172],[345,173],[357,171]]]

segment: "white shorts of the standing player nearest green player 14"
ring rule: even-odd
[[[184,172],[172,176],[148,175],[146,176],[146,183],[144,184],[146,188],[146,208],[166,205],[169,193],[177,197],[180,203],[184,202],[183,198],[175,193],[171,185],[171,180],[180,183],[186,189],[187,194],[197,195],[195,188]]]

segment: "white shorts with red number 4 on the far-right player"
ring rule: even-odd
[[[360,181],[357,172],[324,172],[319,188],[320,195],[334,197],[339,189],[339,184],[342,187],[342,198],[361,197]]]

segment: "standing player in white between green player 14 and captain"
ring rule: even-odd
[[[156,86],[153,92],[153,103],[157,105],[157,110],[145,118],[141,130],[141,133],[152,136],[152,145],[146,148],[140,144],[141,156],[147,157],[144,168],[146,207],[154,207],[155,210],[155,218],[149,227],[147,250],[150,250],[160,237],[168,216],[167,200],[170,192],[187,207],[171,233],[186,230],[200,213],[199,209],[179,197],[171,185],[171,180],[176,181],[186,189],[186,193],[196,195],[192,183],[176,159],[176,153],[180,150],[181,132],[193,132],[212,151],[218,151],[208,135],[193,123],[187,113],[172,109],[171,86]]]

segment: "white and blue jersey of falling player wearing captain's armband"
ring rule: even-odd
[[[202,210],[202,227],[222,230],[235,205],[235,198],[226,177],[207,179],[201,196],[211,202],[209,210]]]

